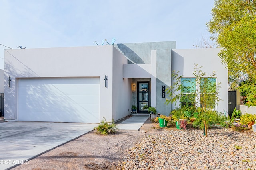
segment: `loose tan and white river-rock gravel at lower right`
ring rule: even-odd
[[[256,133],[232,129],[165,131],[126,149],[122,169],[256,170]]]

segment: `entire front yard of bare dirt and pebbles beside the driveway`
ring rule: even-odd
[[[256,133],[214,128],[153,129],[96,135],[92,131],[14,170],[256,170]]]

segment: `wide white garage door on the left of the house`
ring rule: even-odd
[[[99,123],[99,78],[20,78],[18,120]]]

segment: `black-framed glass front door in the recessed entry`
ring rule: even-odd
[[[149,82],[138,82],[138,113],[148,113]]]

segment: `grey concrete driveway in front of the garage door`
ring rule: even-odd
[[[9,169],[92,131],[93,123],[0,123],[0,170]]]

